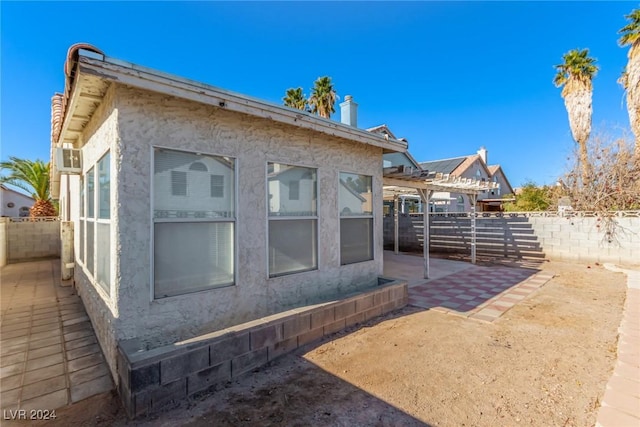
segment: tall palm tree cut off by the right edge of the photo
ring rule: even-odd
[[[618,31],[621,34],[618,44],[631,49],[627,54],[627,67],[618,82],[627,91],[629,124],[636,137],[636,154],[640,156],[640,9],[634,9],[625,18],[630,22]]]

